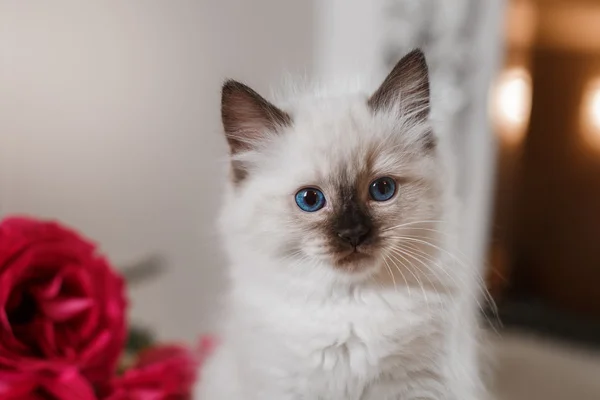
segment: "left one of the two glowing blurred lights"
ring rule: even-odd
[[[525,136],[531,113],[531,77],[523,67],[504,71],[493,91],[492,116],[501,139],[517,145]]]

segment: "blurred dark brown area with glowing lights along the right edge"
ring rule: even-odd
[[[498,392],[600,398],[600,2],[506,7],[489,103]]]

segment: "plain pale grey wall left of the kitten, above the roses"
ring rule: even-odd
[[[194,337],[222,286],[220,84],[310,72],[312,24],[295,0],[0,2],[0,215],[59,218],[117,264],[165,257],[133,317]]]

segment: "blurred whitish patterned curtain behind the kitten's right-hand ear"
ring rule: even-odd
[[[456,153],[463,252],[482,265],[496,147],[487,100],[502,52],[505,1],[387,0],[381,7],[386,69],[412,48],[427,55],[433,119]]]

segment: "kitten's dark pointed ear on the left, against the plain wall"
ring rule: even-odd
[[[223,84],[221,120],[232,155],[251,150],[269,134],[292,123],[287,113],[234,80]]]

